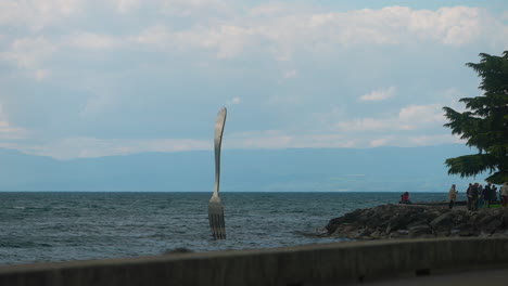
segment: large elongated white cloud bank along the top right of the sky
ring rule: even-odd
[[[221,1],[165,1],[169,11],[223,6]],[[389,6],[380,10],[317,12],[309,6],[261,4],[239,17],[226,14],[216,18],[198,17],[194,25],[176,29],[158,22],[129,39],[139,44],[170,52],[201,49],[218,58],[264,54],[275,61],[292,61],[295,53],[333,53],[336,49],[370,46],[412,46],[437,42],[461,47],[485,41],[485,37],[508,39],[508,27],[477,8],[453,6],[436,11]],[[181,11],[180,11],[181,12]],[[173,12],[172,12],[173,13]],[[177,12],[175,12],[177,13]],[[213,18],[213,21],[209,21]],[[492,26],[499,32],[492,35]],[[494,40],[493,40],[494,41]]]

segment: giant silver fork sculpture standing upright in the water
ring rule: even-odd
[[[214,194],[208,203],[208,221],[214,239],[226,239],[226,226],[224,222],[224,208],[220,204],[219,180],[220,180],[220,145],[223,143],[224,125],[226,122],[226,107],[220,108],[215,121],[215,187]]]

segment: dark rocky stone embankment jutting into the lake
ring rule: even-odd
[[[328,234],[352,239],[508,236],[508,209],[382,205],[330,220]]]

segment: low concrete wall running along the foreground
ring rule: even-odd
[[[0,285],[319,285],[508,265],[508,238],[335,243],[0,268]]]

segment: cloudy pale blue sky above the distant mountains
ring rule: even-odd
[[[58,159],[462,142],[508,2],[1,0],[0,147]]]

